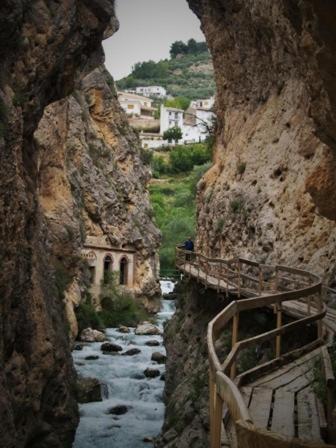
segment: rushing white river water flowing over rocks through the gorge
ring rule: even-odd
[[[163,293],[172,291],[171,281],[161,281]],[[171,300],[161,300],[161,311],[157,314],[157,326],[163,324],[175,312]],[[147,367],[164,373],[165,366],[151,361],[153,352],[165,354],[162,336],[138,336],[122,334],[115,328],[108,328],[109,341],[122,346],[123,351],[139,348],[134,356],[104,355],[101,343],[86,344],[81,351],[74,351],[76,369],[81,376],[94,377],[101,381],[103,401],[80,405],[80,423],[74,448],[142,448],[148,447],[144,437],[155,437],[160,433],[164,418],[163,389],[160,377],[149,379],[143,375]],[[160,346],[148,347],[145,343],[157,340]],[[86,360],[90,355],[96,360]],[[108,410],[116,405],[126,405],[124,415],[111,415]]]

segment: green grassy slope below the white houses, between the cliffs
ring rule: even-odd
[[[211,165],[211,147],[179,146],[169,153],[156,152],[151,161],[150,185],[155,221],[162,232],[161,275],[175,269],[175,247],[195,236],[196,186]]]

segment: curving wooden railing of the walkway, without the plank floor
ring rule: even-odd
[[[317,275],[301,269],[281,265],[263,265],[242,258],[228,261],[209,258],[179,248],[176,250],[176,265],[178,269],[192,275],[206,286],[214,287],[214,278],[217,279],[215,287],[223,289],[224,283],[226,294],[233,292],[238,298],[238,300],[232,300],[208,325],[211,448],[220,448],[221,446],[224,403],[235,422],[239,447],[273,446],[273,444],[267,445],[267,443],[270,443],[272,438],[276,441],[278,436],[270,431],[265,433],[265,431],[254,427],[239,391],[239,384],[244,376],[246,377],[252,372],[260,373],[266,367],[270,368],[272,363],[279,363],[280,360],[285,362],[286,359],[294,355],[297,350],[282,353],[282,336],[284,334],[316,323],[315,342],[313,344],[310,342],[306,347],[301,348],[308,350],[322,342],[322,319],[326,314],[326,306],[322,299],[321,279]],[[239,300],[241,297],[244,299]],[[302,318],[284,324],[282,304],[291,301],[304,302],[306,312]],[[276,328],[248,339],[239,340],[240,313],[270,306],[276,313]],[[216,341],[223,330],[227,328],[231,328],[232,333],[231,350],[225,361],[222,362],[217,356],[215,347]],[[237,360],[240,352],[270,340],[275,340],[273,359],[237,376]],[[252,433],[253,437],[250,437]],[[258,439],[260,439],[260,444],[256,443]],[[292,446],[291,441],[288,441],[288,445],[285,442],[281,445],[281,447],[286,446]]]

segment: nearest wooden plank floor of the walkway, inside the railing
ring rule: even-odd
[[[288,438],[323,444],[312,387],[318,348],[241,388],[256,427]]]

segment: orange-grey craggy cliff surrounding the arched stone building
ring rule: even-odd
[[[88,237],[108,236],[113,247],[136,249],[134,292],[153,307],[148,299],[159,292],[153,259],[160,236],[146,190],[150,173],[103,66],[87,75],[73,95],[46,108],[35,141],[39,199],[51,230],[54,264],[66,283],[73,334],[74,305],[83,286],[78,260]]]

